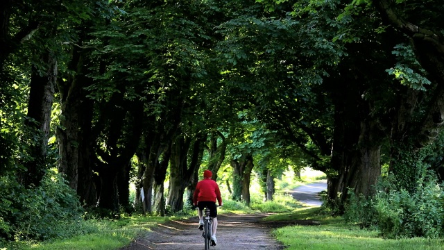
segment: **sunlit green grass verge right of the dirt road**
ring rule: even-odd
[[[301,208],[292,213],[272,215],[266,220],[312,219],[318,226],[286,226],[273,231],[273,235],[288,249],[444,249],[444,240],[411,238],[388,240],[379,237],[378,231],[361,229],[345,224],[341,217],[330,217],[321,208]]]

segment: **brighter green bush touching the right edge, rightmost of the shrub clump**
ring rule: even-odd
[[[421,177],[413,192],[389,189],[375,196],[382,235],[387,238],[444,236],[444,190],[433,174]]]

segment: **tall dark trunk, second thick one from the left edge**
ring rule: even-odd
[[[80,41],[87,33],[80,33]],[[90,50],[73,48],[69,69],[74,76],[66,76],[67,81],[58,81],[60,93],[60,126],[56,131],[59,159],[59,172],[65,174],[71,188],[77,191],[80,202],[86,206],[97,206],[101,184],[99,176],[93,174],[96,163],[94,147],[96,133],[93,128],[94,101],[89,99],[86,87],[92,85],[88,67]]]

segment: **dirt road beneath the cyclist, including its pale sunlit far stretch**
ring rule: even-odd
[[[313,184],[310,184],[313,185]],[[323,184],[314,185],[311,188],[323,188]],[[301,191],[302,190],[302,191]],[[321,189],[322,190],[322,189]],[[316,194],[321,190],[310,191],[302,186],[293,192],[293,197],[306,202],[320,202]],[[310,198],[311,197],[311,198]],[[317,206],[317,205],[316,205]],[[320,206],[320,205],[319,205]],[[317,222],[310,220],[293,220],[288,222],[262,222],[262,218],[268,214],[236,215],[233,213],[219,214],[219,226],[216,238],[218,244],[211,249],[223,250],[278,250],[284,246],[277,242],[271,235],[273,228],[288,225],[317,225]],[[141,235],[135,242],[121,250],[196,250],[203,249],[203,237],[201,231],[197,229],[198,218],[182,219],[159,224],[153,228],[153,232]]]

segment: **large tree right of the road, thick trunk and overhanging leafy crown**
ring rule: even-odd
[[[375,32],[373,10],[356,10],[366,16],[351,22],[350,15],[339,16],[340,3],[306,3],[291,7],[290,16],[282,14],[289,6],[275,6],[268,14],[274,19],[246,12],[222,26],[230,37],[222,48],[235,67],[232,82],[258,93],[250,99],[257,117],[291,138],[288,144],[300,147],[311,167],[327,174],[330,200],[341,210],[349,188],[368,196],[379,178],[381,128],[389,125],[373,114],[388,116],[380,110],[378,93],[393,85],[382,72],[395,60],[378,55],[385,57],[395,43],[379,43],[391,36]],[[248,79],[257,78],[262,84],[252,87]],[[386,94],[385,105],[395,105],[393,92]]]

